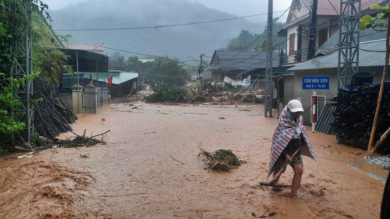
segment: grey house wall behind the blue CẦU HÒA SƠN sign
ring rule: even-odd
[[[376,72],[373,83],[381,83],[383,67],[360,67],[359,71]],[[294,71],[294,75],[282,76],[284,79],[284,100],[282,106],[285,106],[292,99],[300,100],[304,109],[312,105],[311,96],[313,95],[313,90],[302,89],[302,76],[330,76],[329,90],[316,90],[316,95],[326,96],[325,99],[332,99],[337,95],[337,68]],[[386,80],[390,80],[390,75],[386,76]],[[326,103],[329,102],[331,101],[326,100]],[[310,110],[302,116],[304,124],[311,126]]]

